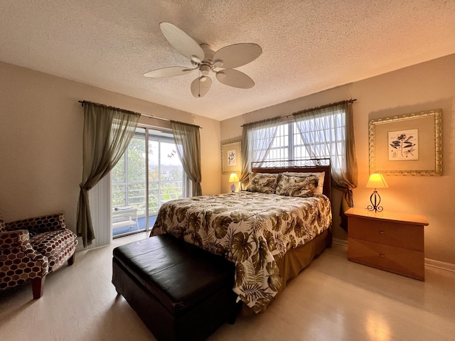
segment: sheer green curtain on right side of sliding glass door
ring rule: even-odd
[[[200,135],[199,126],[171,121],[173,139],[176,141],[178,158],[188,178],[193,183],[193,195],[202,195],[200,182]]]

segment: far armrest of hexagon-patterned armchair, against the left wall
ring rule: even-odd
[[[65,217],[63,213],[16,220],[15,222],[6,222],[7,231],[28,229],[31,234],[50,232],[63,228],[65,228]]]

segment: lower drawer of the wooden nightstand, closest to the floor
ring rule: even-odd
[[[350,228],[350,227],[349,227]],[[424,252],[348,238],[348,259],[424,281]]]

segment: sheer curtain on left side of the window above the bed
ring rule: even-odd
[[[240,187],[247,182],[251,171],[252,161],[264,161],[277,135],[278,123],[281,117],[264,119],[243,125],[242,129],[242,171]]]

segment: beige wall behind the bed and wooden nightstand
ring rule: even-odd
[[[380,190],[384,210],[422,214],[425,228],[425,257],[455,264],[455,55],[406,67],[368,80],[301,97],[274,107],[257,110],[221,122],[221,141],[241,136],[241,125],[301,109],[355,98],[353,104],[355,146],[358,159],[358,188],[354,190],[356,207],[366,207],[371,189],[368,181],[368,121],[382,117],[443,109],[444,176],[386,176],[390,188]],[[228,192],[228,175],[221,176],[221,191]],[[346,239],[336,215],[339,193],[333,197],[334,237]]]

